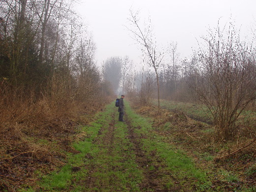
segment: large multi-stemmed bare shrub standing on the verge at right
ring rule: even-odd
[[[255,55],[232,24],[227,33],[217,28],[203,39],[208,46],[198,53],[201,70],[194,90],[211,111],[218,139],[228,141],[236,135],[241,112],[256,99]]]

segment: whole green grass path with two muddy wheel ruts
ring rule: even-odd
[[[81,130],[84,136],[73,144],[80,153],[68,154],[61,170],[42,176],[40,188],[25,191],[210,191],[206,174],[125,104],[126,122],[118,122],[117,107],[108,105]]]

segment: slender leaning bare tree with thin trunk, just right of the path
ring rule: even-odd
[[[131,25],[131,28],[128,30],[133,34],[133,39],[141,45],[140,50],[143,51],[145,56],[147,56],[147,60],[149,60],[148,64],[150,67],[153,67],[157,76],[157,86],[158,86],[158,109],[160,111],[160,93],[159,93],[159,75],[158,68],[162,62],[164,57],[163,51],[159,51],[157,49],[156,40],[154,40],[153,27],[151,20],[149,19],[149,24],[143,26],[139,23],[138,12],[134,13],[131,9],[130,18],[128,19]]]

